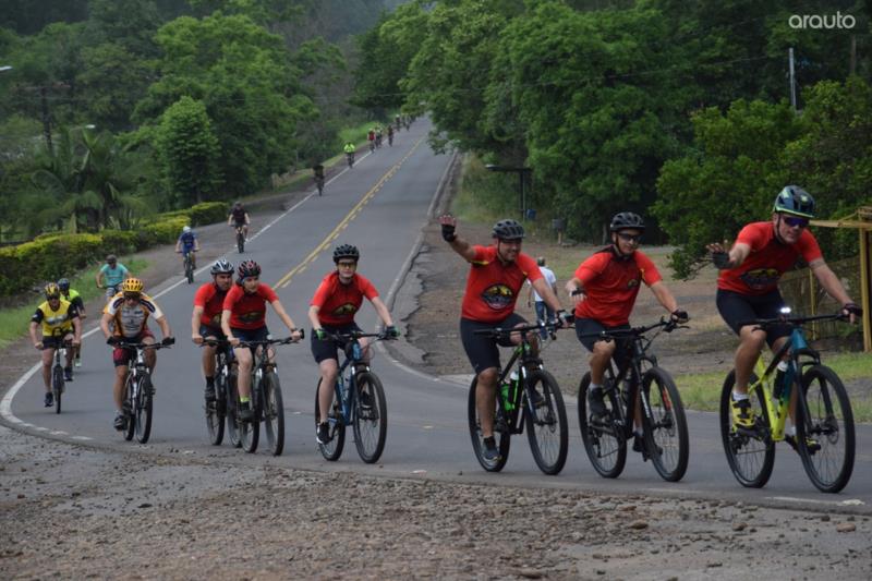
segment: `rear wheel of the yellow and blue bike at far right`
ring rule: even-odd
[[[756,375],[751,375],[750,384],[756,383]],[[775,445],[772,441],[772,427],[765,412],[765,395],[758,386],[749,391],[751,411],[758,417],[759,427],[754,431],[738,431],[732,426],[732,386],[736,384],[736,371],[729,372],[724,379],[720,392],[720,439],[727,462],[732,475],[742,486],[761,488],[775,465]]]

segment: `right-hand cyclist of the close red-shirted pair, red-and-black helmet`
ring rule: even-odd
[[[272,305],[276,314],[291,334],[294,341],[299,341],[301,334],[296,330],[290,315],[279,301],[278,294],[268,285],[261,282],[261,266],[254,261],[245,261],[237,269],[237,283],[227,292],[221,306],[221,330],[227,340],[233,346],[233,354],[239,363],[239,419],[243,422],[252,420],[252,367],[254,358],[252,350],[239,347],[240,341],[262,341],[267,339],[269,330],[266,327],[266,303]],[[259,349],[259,348],[258,348]],[[269,361],[272,362],[272,350],[269,350]]]

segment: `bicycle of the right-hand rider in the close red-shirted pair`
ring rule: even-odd
[[[300,329],[301,339],[303,329]],[[264,423],[267,446],[272,456],[281,456],[284,449],[284,403],[281,398],[281,386],[279,376],[276,373],[276,363],[269,362],[269,346],[288,344],[293,342],[290,337],[284,339],[264,339],[262,341],[240,341],[240,347],[258,348],[255,351],[255,362],[252,367],[252,420],[243,421],[239,419],[239,389],[237,382],[230,386],[234,396],[232,419],[233,428],[239,435],[242,449],[249,453],[257,451],[261,439],[261,422]],[[231,413],[228,413],[228,425],[230,425]],[[233,432],[231,429],[231,441]]]

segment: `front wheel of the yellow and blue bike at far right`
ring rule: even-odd
[[[797,446],[802,465],[818,489],[837,493],[853,471],[856,436],[848,392],[833,370],[813,365],[802,374],[800,396]]]

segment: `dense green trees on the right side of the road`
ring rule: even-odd
[[[532,206],[573,238],[639,211],[690,276],[706,242],[766,218],[784,184],[814,194],[821,217],[872,201],[871,7],[410,2],[365,35],[355,98],[428,111],[437,147],[531,168]],[[850,250],[836,238],[827,251]]]

